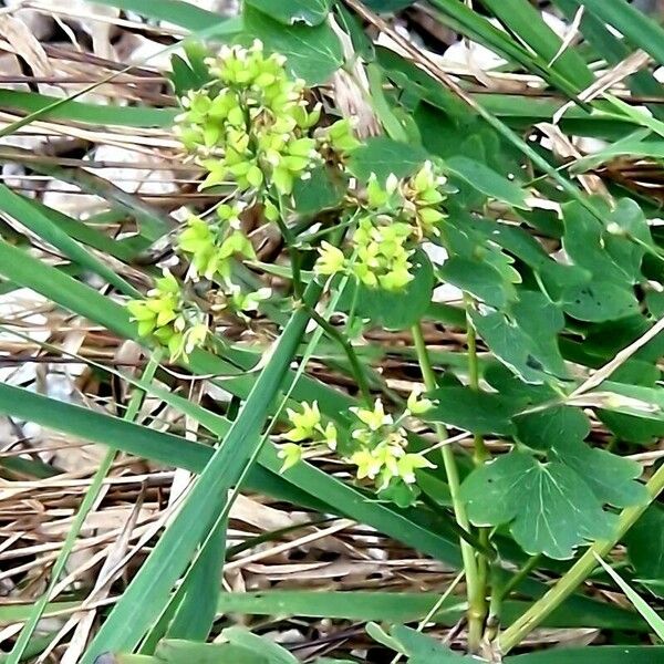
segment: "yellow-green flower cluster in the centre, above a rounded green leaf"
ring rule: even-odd
[[[354,257],[322,242],[315,271],[322,276],[354,276],[369,288],[401,291],[413,280],[411,257],[417,242],[439,235],[445,178],[432,162],[411,178],[391,175],[384,184],[372,175],[361,201],[362,216],[352,236]]]

